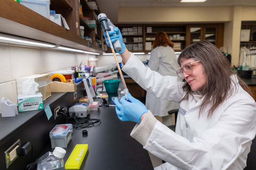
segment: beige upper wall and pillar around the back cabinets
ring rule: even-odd
[[[225,23],[224,47],[239,62],[241,21],[256,21],[256,6],[119,7],[119,23]]]

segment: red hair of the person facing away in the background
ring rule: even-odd
[[[173,47],[173,42],[164,31],[159,31],[156,33],[155,41],[153,42],[153,48],[156,48],[158,46]]]

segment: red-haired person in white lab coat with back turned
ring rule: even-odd
[[[176,54],[172,49],[173,42],[164,31],[156,33],[153,48],[148,61],[148,67],[162,76],[177,76],[176,70],[178,70],[180,66],[177,63]],[[179,106],[180,104],[177,102],[160,99],[150,92],[147,92],[146,107],[166,126],[172,124],[172,115],[169,115],[168,111],[178,109]]]

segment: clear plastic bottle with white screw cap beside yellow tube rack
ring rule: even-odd
[[[56,147],[53,152],[47,152],[37,160],[37,170],[65,170],[63,157],[65,149]]]

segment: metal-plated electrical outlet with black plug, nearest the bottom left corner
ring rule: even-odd
[[[15,161],[19,156],[16,149],[20,146],[20,139],[17,140],[10,148],[4,152],[6,169]]]

